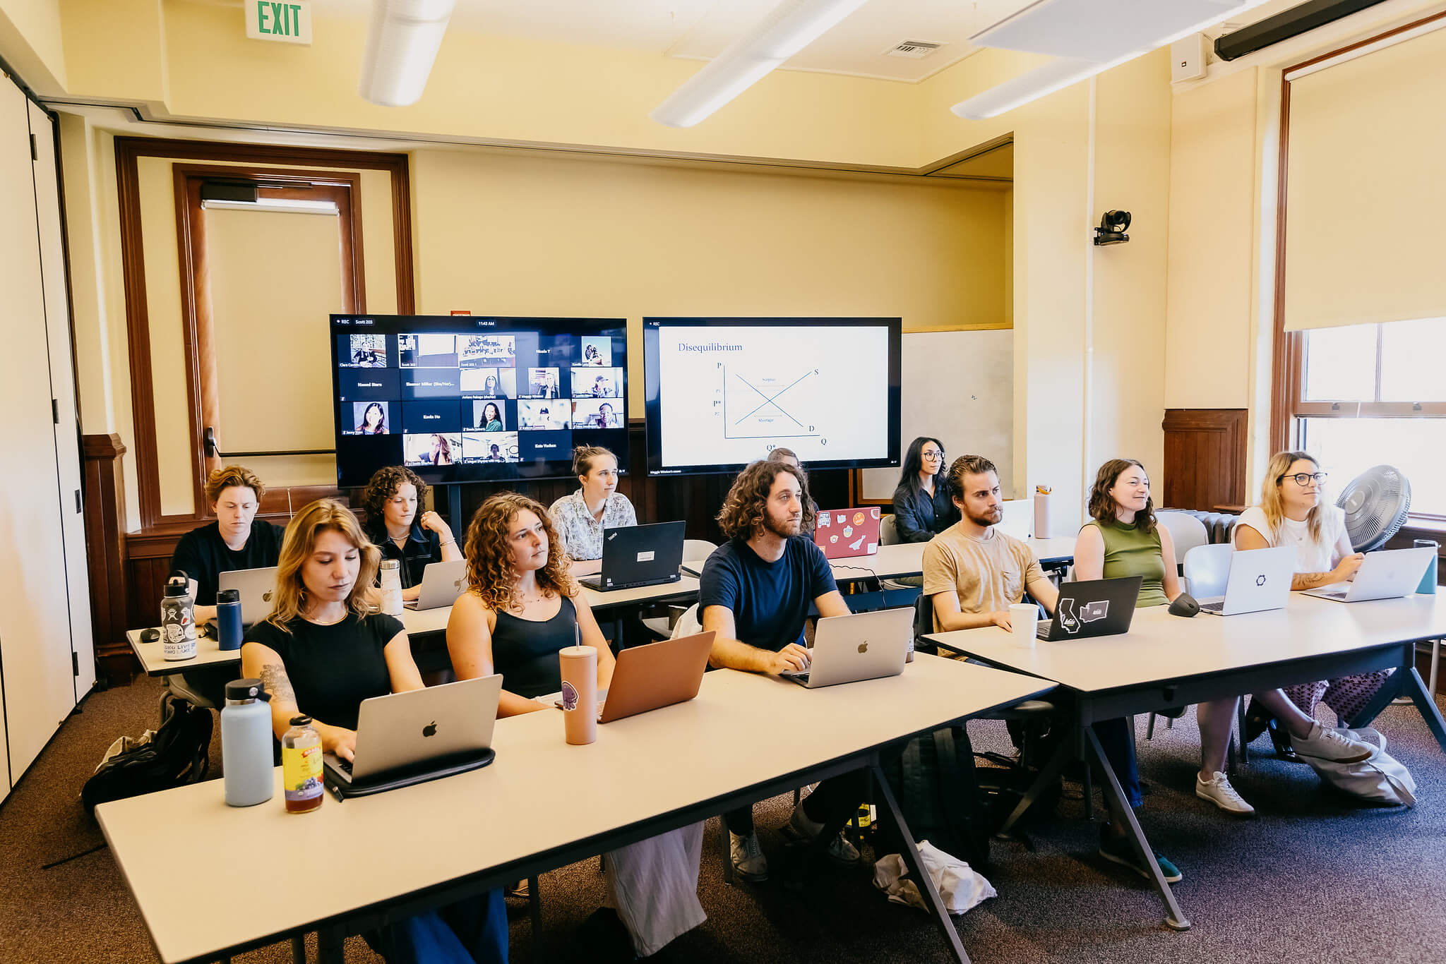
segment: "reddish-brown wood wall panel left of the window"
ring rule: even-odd
[[[1170,509],[1245,504],[1245,409],[1165,409],[1164,493]]]

